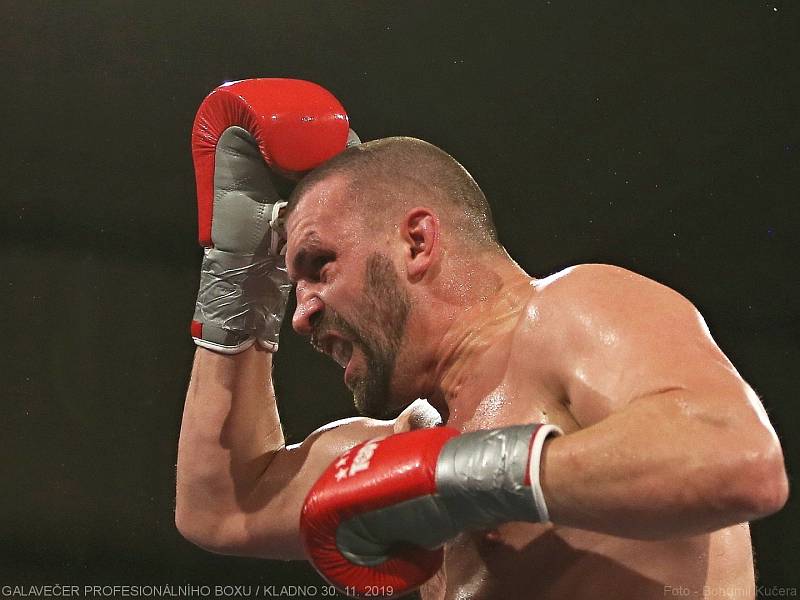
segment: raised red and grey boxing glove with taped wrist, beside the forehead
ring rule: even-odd
[[[200,243],[192,319],[198,346],[233,354],[278,348],[291,283],[277,231],[274,172],[307,171],[345,149],[347,115],[308,81],[248,79],[215,89],[192,130]]]

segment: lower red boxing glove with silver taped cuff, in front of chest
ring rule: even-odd
[[[306,553],[348,595],[411,592],[462,531],[548,520],[539,463],[545,439],[560,433],[542,424],[463,435],[435,427],[356,446],[308,493],[300,517]]]

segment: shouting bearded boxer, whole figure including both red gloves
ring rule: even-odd
[[[442,150],[345,149],[323,91],[240,92],[223,104],[293,126],[226,117],[196,136],[216,161],[196,161],[187,539],[310,559],[361,597],[754,597],[747,522],[785,503],[783,456],[688,300],[608,265],[528,275]],[[274,174],[311,168],[275,210]],[[270,373],[290,283],[294,329],[343,367],[363,416],[286,446]]]

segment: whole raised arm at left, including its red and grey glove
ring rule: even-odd
[[[290,284],[275,172],[345,147],[348,121],[312,83],[247,80],[214,90],[192,132],[200,291],[197,350],[178,450],[176,524],[216,552],[300,558],[300,508],[330,460],[392,424],[352,420],[285,448],[270,380]]]

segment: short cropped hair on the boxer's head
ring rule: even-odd
[[[391,137],[348,148],[301,180],[289,198],[287,216],[315,184],[333,175],[342,176],[353,191],[357,214],[374,224],[385,224],[414,206],[429,206],[462,241],[500,247],[483,191],[458,161],[433,144]]]

